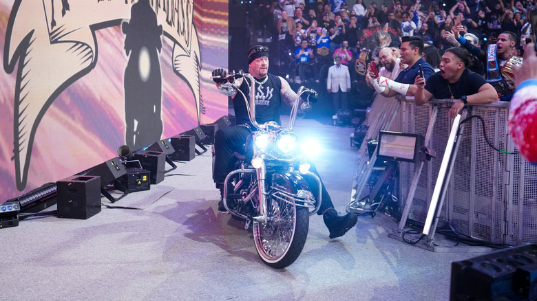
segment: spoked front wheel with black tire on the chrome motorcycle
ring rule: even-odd
[[[310,216],[307,208],[268,197],[266,223],[253,221],[255,248],[262,260],[276,269],[298,258],[306,238]]]

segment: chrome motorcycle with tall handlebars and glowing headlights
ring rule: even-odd
[[[243,76],[249,86],[250,98],[246,101],[249,119],[257,131],[246,141],[246,155],[235,153],[237,169],[224,181],[222,201],[234,219],[244,221],[249,229],[251,222],[255,249],[260,258],[269,265],[281,269],[291,265],[300,255],[308,236],[309,216],[315,214],[322,202],[321,180],[309,171],[306,155],[299,147],[293,126],[299,111],[302,95],[308,96],[301,106],[310,109],[310,96],[317,97],[312,89],[300,87],[291,109],[289,124],[276,122],[257,124],[255,121],[255,80],[250,74],[228,74],[228,82],[219,91],[232,96],[235,78]],[[244,96],[246,100],[246,96]],[[318,191],[310,190],[304,175],[317,181]]]

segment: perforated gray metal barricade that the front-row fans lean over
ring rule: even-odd
[[[432,125],[429,147],[436,158],[426,161],[412,199],[408,219],[424,222],[448,142],[452,120],[450,100],[431,100],[423,106],[403,99],[399,110],[401,131],[425,136],[433,107],[438,114]],[[471,106],[467,116],[485,122],[489,142],[500,150],[518,151],[507,128],[509,102]],[[465,123],[456,154],[450,185],[443,202],[439,226],[450,223],[461,234],[492,243],[537,243],[537,166],[520,155],[500,153],[490,147],[481,121]],[[401,209],[408,202],[414,170],[418,164],[401,162],[399,195]]]

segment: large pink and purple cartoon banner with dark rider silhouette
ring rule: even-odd
[[[227,115],[227,1],[0,1],[0,202]]]

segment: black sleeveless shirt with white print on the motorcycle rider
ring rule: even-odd
[[[263,85],[255,84],[255,121],[258,124],[264,124],[268,121],[275,121],[277,124],[282,124],[282,120],[280,119],[280,106],[282,104],[282,94],[280,91],[282,90],[282,81],[278,76],[272,74],[268,74],[267,76],[268,78]],[[257,82],[263,82],[264,79],[257,79]],[[246,80],[250,82],[249,79],[244,78],[240,86],[240,91],[249,100],[250,91],[248,85],[246,85]],[[233,98],[233,109],[235,110],[237,124],[249,124],[249,126],[252,126],[248,117],[246,102],[244,102],[244,97],[240,92]]]

